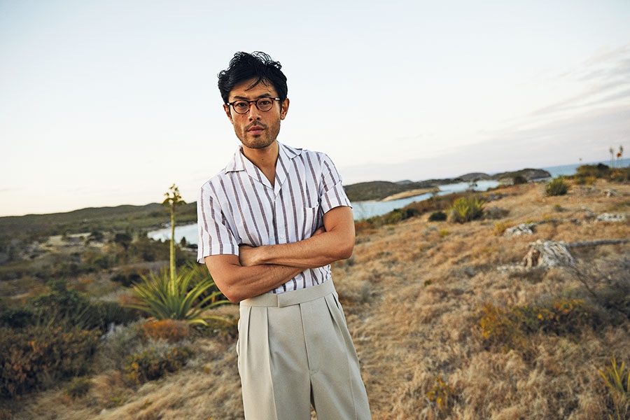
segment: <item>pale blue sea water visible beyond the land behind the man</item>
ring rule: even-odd
[[[573,165],[559,165],[554,167],[543,167],[541,169],[545,169],[545,171],[551,174],[551,178],[556,178],[557,176],[570,176],[577,172],[577,167],[582,165],[597,165],[598,163],[603,163],[604,165],[610,166],[610,160],[605,161],[601,160],[598,162],[580,162]],[[619,167],[628,167],[630,166],[630,158],[615,161],[615,166],[619,165]],[[449,193],[458,193],[469,188],[468,183],[453,183],[444,186],[440,186],[440,192],[438,195],[445,195]],[[477,191],[486,191],[489,188],[494,188],[498,186],[497,181],[477,181],[477,187],[475,190]],[[402,209],[407,204],[411,204],[412,202],[418,202],[422,200],[426,200],[431,196],[430,193],[423,195],[416,195],[414,197],[407,197],[401,200],[392,200],[389,202],[377,202],[377,201],[364,201],[364,202],[353,202],[352,203],[352,211],[354,214],[354,220],[359,221],[364,218],[370,218],[373,216],[380,216],[381,214],[389,213],[394,209]],[[165,228],[160,230],[154,230],[152,232],[148,232],[148,237],[156,240],[168,241],[171,239],[171,229]],[[197,224],[194,225],[182,225],[175,227],[175,241],[179,243],[182,238],[186,238],[186,242],[189,244],[197,244]]]

